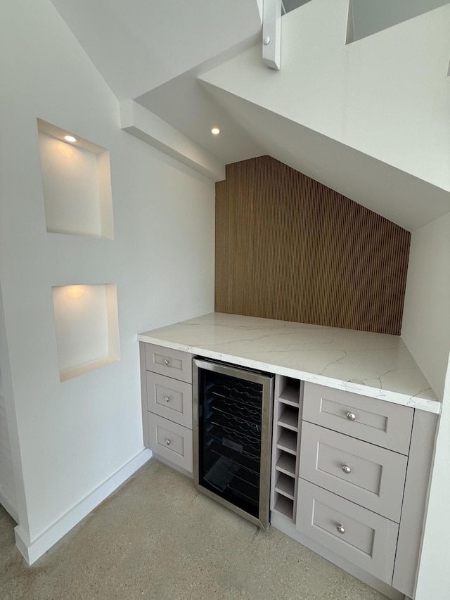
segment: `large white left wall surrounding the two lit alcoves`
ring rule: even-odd
[[[214,184],[120,130],[49,0],[2,7],[0,72],[0,365],[32,543],[141,452],[136,333],[213,309]],[[114,241],[46,232],[37,117],[110,151]],[[121,359],[60,383],[52,286],[80,282],[117,284]]]

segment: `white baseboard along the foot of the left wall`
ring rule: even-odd
[[[99,485],[94,492],[91,492],[86,498],[79,502],[73,509],[70,509],[63,517],[58,519],[53,525],[51,525],[44,533],[39,535],[36,540],[32,542],[27,539],[27,535],[18,525],[15,532],[15,544],[18,547],[21,554],[25,558],[25,561],[29,565],[32,565],[37,559],[42,556],[47,550],[49,550],[53,544],[56,544],[66,533],[75,527],[85,516],[89,515],[98,504],[101,504],[103,500],[108,498],[117,487],[122,485],[133,473],[135,473],[141,466],[152,457],[152,452],[144,448],[136,454],[136,457],[124,464],[119,471],[116,471],[110,476],[105,482]]]

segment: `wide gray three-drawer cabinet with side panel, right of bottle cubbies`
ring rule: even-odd
[[[297,532],[413,597],[436,417],[304,383]]]

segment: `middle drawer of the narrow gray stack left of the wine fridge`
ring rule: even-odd
[[[147,409],[192,429],[192,385],[146,371]]]

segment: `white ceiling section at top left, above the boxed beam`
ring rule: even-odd
[[[51,1],[119,100],[229,57],[261,30],[257,0]]]

